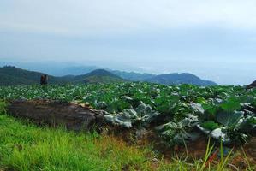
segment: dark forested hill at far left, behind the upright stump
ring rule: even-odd
[[[43,73],[27,71],[21,68],[6,66],[0,68],[0,85],[32,85],[39,84],[40,77]],[[50,84],[63,84],[68,82],[64,78],[58,78],[49,75]]]

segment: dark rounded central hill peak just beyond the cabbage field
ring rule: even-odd
[[[124,80],[121,77],[104,69],[96,69],[91,73],[75,76],[73,78],[74,83],[111,83],[122,81]]]

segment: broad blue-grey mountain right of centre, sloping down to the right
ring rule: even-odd
[[[191,84],[191,85],[217,85],[215,82],[209,80],[201,80],[199,77],[193,74],[159,74],[150,79],[145,80],[147,82],[164,84],[164,85],[178,85],[178,84]]]

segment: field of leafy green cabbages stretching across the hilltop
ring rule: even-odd
[[[168,145],[211,136],[242,144],[256,133],[256,89],[241,86],[27,85],[0,87],[0,99],[52,99],[105,110],[110,124],[151,128]]]

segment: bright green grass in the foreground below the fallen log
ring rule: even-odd
[[[226,162],[211,168],[205,161],[166,162],[149,148],[127,146],[115,137],[36,127],[0,115],[0,170],[228,170]]]

